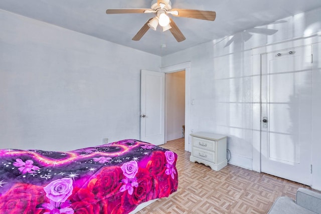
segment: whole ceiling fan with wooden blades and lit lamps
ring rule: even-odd
[[[178,42],[184,41],[186,38],[183,33],[177,27],[172,18],[168,15],[175,17],[186,17],[193,19],[201,19],[214,21],[216,13],[214,11],[199,11],[190,9],[172,9],[172,3],[170,0],[152,0],[150,9],[107,9],[106,14],[150,14],[153,13],[156,16],[149,19],[143,27],[132,38],[134,41],[138,41],[144,36],[144,34],[151,28],[156,31],[157,26],[162,27],[162,31],[170,30],[175,39]]]

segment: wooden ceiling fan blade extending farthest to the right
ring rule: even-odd
[[[186,17],[208,21],[214,21],[216,18],[216,13],[214,11],[199,11],[190,9],[172,9],[172,11],[177,11],[179,13],[178,15],[173,13],[173,16],[176,17]]]

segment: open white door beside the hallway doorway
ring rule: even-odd
[[[140,140],[154,145],[165,141],[165,73],[141,70]]]

